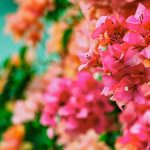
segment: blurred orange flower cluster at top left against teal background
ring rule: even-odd
[[[25,37],[27,43],[35,45],[41,39],[43,24],[40,18],[46,10],[53,9],[52,0],[18,0],[19,10],[7,18],[7,32],[15,39]]]

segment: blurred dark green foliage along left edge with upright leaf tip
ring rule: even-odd
[[[23,47],[20,51],[20,65],[11,64],[11,60],[7,59],[1,68],[9,71],[6,84],[0,93],[0,138],[2,133],[11,125],[12,113],[6,108],[6,104],[10,100],[16,100],[23,97],[24,89],[31,80],[34,72],[32,67],[25,61],[27,48]]]

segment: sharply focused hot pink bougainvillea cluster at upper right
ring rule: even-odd
[[[83,65],[96,66],[103,74],[102,94],[120,108],[129,101],[146,101],[143,86],[150,81],[150,11],[139,4],[134,16],[102,16],[92,34],[90,51],[83,54]]]

